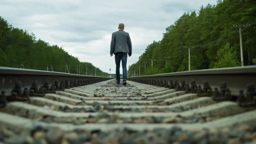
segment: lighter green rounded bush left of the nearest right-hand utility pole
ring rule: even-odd
[[[235,67],[241,65],[238,62],[237,53],[233,46],[226,44],[221,49],[217,51],[217,62],[214,63],[214,68],[225,68],[225,67]]]

